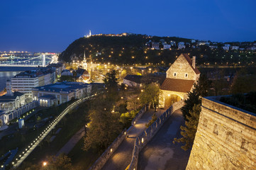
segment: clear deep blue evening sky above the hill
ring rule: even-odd
[[[256,40],[255,0],[1,0],[0,51],[62,52],[89,33]]]

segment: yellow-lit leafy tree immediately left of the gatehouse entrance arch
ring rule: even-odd
[[[157,105],[159,103],[160,86],[156,83],[145,85],[143,91],[140,93],[140,103],[143,105],[152,103],[153,108],[157,111]]]

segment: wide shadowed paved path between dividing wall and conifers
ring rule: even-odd
[[[172,143],[174,137],[181,137],[180,125],[184,125],[184,119],[182,112],[177,110],[140,152],[138,169],[186,169],[190,150],[184,152],[181,144]]]

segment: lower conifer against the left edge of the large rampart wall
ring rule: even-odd
[[[181,138],[177,139],[174,138],[173,143],[175,142],[182,142],[185,145],[182,146],[184,151],[191,148],[194,143],[194,137],[196,136],[196,130],[199,123],[199,115],[201,112],[201,104],[195,104],[192,111],[189,111],[189,115],[186,115],[187,121],[185,122],[185,126],[181,126],[180,129],[182,130],[180,133],[182,135]]]

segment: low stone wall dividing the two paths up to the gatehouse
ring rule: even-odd
[[[143,149],[143,147],[145,147],[145,145],[148,144],[148,142],[150,142],[152,137],[157,134],[158,130],[160,130],[160,128],[170,117],[170,115],[172,115],[172,113],[174,113],[174,111],[176,111],[177,109],[182,108],[182,106],[184,106],[184,101],[178,101],[174,103],[165,111],[165,113],[162,113],[162,115],[160,115],[160,117],[157,118],[157,120],[155,120],[155,122],[148,129],[144,130],[144,132],[136,138],[133,146],[132,159],[127,169],[137,169],[140,151]]]

